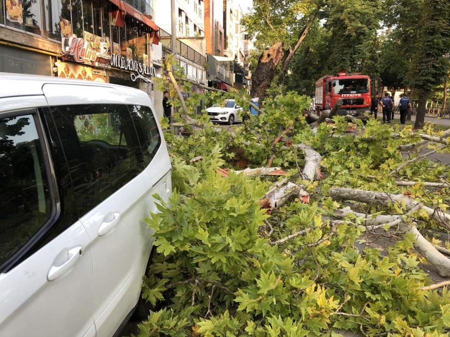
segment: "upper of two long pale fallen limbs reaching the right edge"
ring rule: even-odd
[[[351,188],[331,188],[329,193],[331,198],[334,200],[353,200],[378,206],[388,206],[389,204],[396,202],[400,206],[404,204],[407,210],[411,210],[418,205],[418,202],[414,199],[403,194],[388,194]],[[432,209],[423,205],[421,205],[420,208],[423,209],[431,218],[435,219],[437,222],[444,225],[446,229],[450,230],[450,214],[446,214],[441,210]]]

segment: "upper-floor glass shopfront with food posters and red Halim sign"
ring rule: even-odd
[[[126,2],[142,12],[152,11],[144,0]],[[147,64],[153,29],[122,12],[115,3],[107,0],[0,0],[0,24],[56,41],[82,38],[91,50],[106,58],[114,53]]]

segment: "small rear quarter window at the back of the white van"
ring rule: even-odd
[[[156,120],[148,106],[129,105],[128,108],[136,127],[145,164],[148,165],[161,145]]]

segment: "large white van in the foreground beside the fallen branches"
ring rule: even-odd
[[[0,336],[110,337],[142,304],[144,217],[171,193],[152,103],[44,76],[0,87]]]

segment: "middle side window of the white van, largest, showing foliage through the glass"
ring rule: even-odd
[[[137,176],[145,163],[128,108],[121,104],[52,108],[79,216]]]

